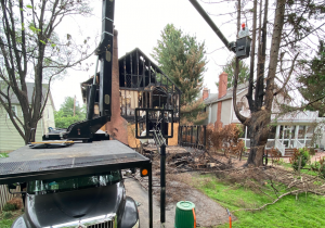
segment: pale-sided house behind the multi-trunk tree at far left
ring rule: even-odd
[[[31,101],[34,91],[34,84],[26,83],[28,91],[28,100]],[[43,94],[46,94],[48,85],[43,85]],[[23,118],[22,107],[16,96],[12,92],[12,109],[16,113],[16,116]],[[36,141],[42,141],[42,136],[49,131],[49,127],[55,128],[54,123],[54,102],[50,92],[48,102],[46,104],[42,118],[38,122],[36,130]],[[12,124],[9,115],[3,106],[0,105],[0,152],[13,151],[25,145],[25,142],[14,125]]]

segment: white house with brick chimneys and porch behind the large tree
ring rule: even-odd
[[[237,119],[233,109],[233,89],[226,89],[227,74],[222,73],[219,76],[219,93],[209,93],[207,89],[203,91],[204,102],[206,104],[206,112],[208,112],[208,118],[206,124],[214,124],[214,126],[224,126],[229,124],[240,124]],[[237,106],[242,115],[249,117],[250,111],[246,94],[248,91],[248,84],[242,84],[237,87]],[[285,98],[283,94],[275,97],[276,101],[273,102],[272,112],[278,113],[278,104],[289,104],[290,99]],[[321,147],[325,144],[324,136],[318,135],[315,137],[315,130],[323,132],[322,125],[320,123],[325,122],[324,117],[318,117],[318,112],[306,111],[299,113],[288,113],[285,115],[272,114],[272,126],[269,134],[266,149],[276,148],[285,155],[286,149],[303,148],[308,147]],[[318,128],[316,128],[316,126]],[[321,129],[322,128],[322,129]],[[245,145],[250,148],[249,132],[247,127],[245,128],[245,135],[243,136]]]

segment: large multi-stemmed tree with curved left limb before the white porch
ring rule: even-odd
[[[257,2],[255,2],[257,5]],[[262,7],[262,4],[260,4]],[[237,79],[238,79],[238,67],[239,61],[236,60],[236,71],[235,71],[235,84],[233,90],[233,99],[234,99],[234,111],[237,118],[248,127],[248,131],[250,132],[250,152],[246,163],[246,166],[253,165],[253,166],[262,166],[263,165],[263,154],[264,148],[268,142],[269,136],[269,125],[271,123],[271,109],[273,102],[273,94],[274,94],[274,78],[276,73],[277,66],[277,55],[280,50],[281,43],[281,35],[284,25],[284,11],[285,11],[285,0],[278,0],[275,10],[275,20],[274,20],[274,28],[272,35],[272,47],[271,47],[271,54],[270,54],[270,66],[269,66],[269,74],[266,78],[266,89],[264,91],[264,64],[265,64],[265,51],[266,51],[266,24],[268,24],[268,7],[269,0],[265,0],[263,5],[263,27],[262,27],[262,36],[259,39],[259,51],[258,51],[258,77],[256,84],[256,94],[255,101],[252,101],[252,73],[253,68],[251,67],[250,71],[250,80],[249,80],[249,89],[247,99],[249,102],[251,117],[246,118],[239,114],[239,111],[236,106],[236,89],[237,89]],[[261,10],[261,9],[260,9]],[[256,12],[255,12],[256,14]],[[256,20],[256,15],[253,15]],[[261,15],[260,15],[261,17]],[[240,14],[237,14],[237,25],[238,21],[240,20]],[[260,23],[261,24],[261,23]],[[253,27],[256,24],[253,25]],[[256,30],[256,29],[255,29]],[[253,34],[256,35],[256,34]],[[259,36],[260,38],[260,36]],[[255,50],[255,48],[252,48]],[[253,53],[251,54],[253,58]],[[251,60],[251,65],[253,66],[253,60]],[[265,101],[265,104],[264,102]]]

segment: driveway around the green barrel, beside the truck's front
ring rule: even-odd
[[[139,207],[140,213],[140,225],[143,228],[148,227],[148,202],[147,202],[147,191],[134,179],[127,179],[125,181],[127,195],[132,197],[136,202],[141,203]],[[170,194],[181,195],[182,201],[191,201],[195,204],[197,227],[210,227],[219,224],[224,224],[229,221],[229,216],[222,206],[220,206],[216,201],[209,199],[204,193],[188,187],[185,183],[172,181],[173,191],[167,194],[167,198]],[[168,188],[168,187],[167,187]],[[156,191],[159,188],[155,188]],[[169,189],[169,190],[170,190]],[[170,199],[167,199],[169,202],[166,207],[166,227],[173,228],[174,226],[174,214],[176,214],[176,204],[177,202],[170,202]],[[154,227],[160,227],[160,206],[157,199],[154,197]],[[233,216],[233,220],[236,219]]]

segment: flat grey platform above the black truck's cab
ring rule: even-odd
[[[0,185],[148,167],[147,157],[117,140],[75,143],[66,148],[20,148],[0,159]]]

